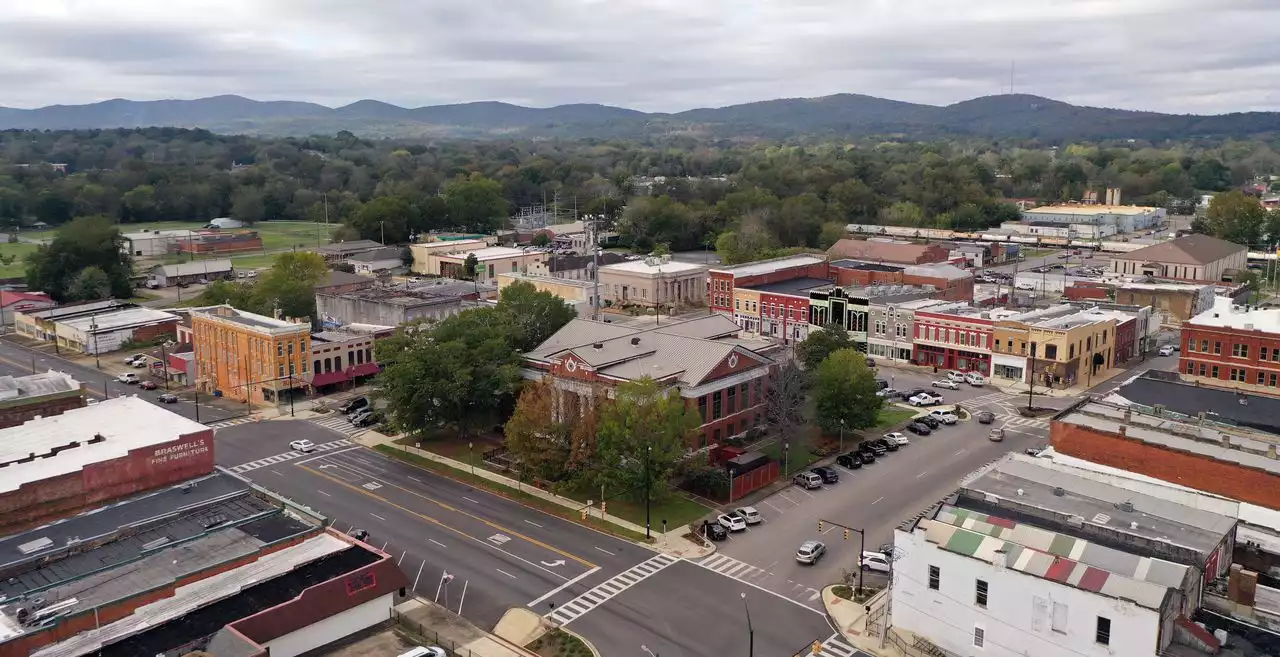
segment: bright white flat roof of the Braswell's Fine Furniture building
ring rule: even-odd
[[[0,429],[0,493],[206,430],[204,424],[137,396],[27,420]]]

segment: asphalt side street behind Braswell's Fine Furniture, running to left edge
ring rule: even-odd
[[[165,410],[177,412],[183,418],[191,418],[206,424],[246,415],[244,409],[241,406],[223,405],[221,402],[211,403],[212,400],[210,398],[206,401],[205,397],[201,397],[201,403],[197,410],[196,405],[192,403],[189,394],[187,398],[178,401],[178,403],[160,403],[156,400],[160,393],[164,392],[163,385],[156,391],[143,391],[137,385],[128,385],[115,380],[114,377],[116,373],[140,371],[122,362],[125,356],[128,355],[124,352],[102,356],[102,366],[109,371],[101,371],[67,359],[61,359],[56,353],[46,353],[24,345],[18,345],[14,341],[0,338],[0,374],[26,377],[33,371],[47,371],[54,369],[70,374],[76,378],[76,380],[83,383],[87,391],[96,397],[137,394],[138,397],[151,401]]]

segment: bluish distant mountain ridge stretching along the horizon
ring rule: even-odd
[[[1249,137],[1280,132],[1280,113],[1160,114],[1078,106],[1030,95],[983,96],[936,106],[858,93],[778,99],[672,114],[609,105],[525,108],[498,101],[401,108],[360,100],[340,108],[242,96],[134,101],[38,109],[0,108],[0,129],[136,127],[205,128],[221,133],[303,136],[351,131],[370,137],[646,137],[796,136],[1018,137],[1047,141]]]

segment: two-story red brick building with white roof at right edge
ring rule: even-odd
[[[1183,323],[1178,371],[1206,385],[1280,394],[1280,309],[1215,297]]]

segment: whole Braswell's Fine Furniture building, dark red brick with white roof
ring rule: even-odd
[[[209,474],[214,430],[137,397],[0,429],[0,529]]]

